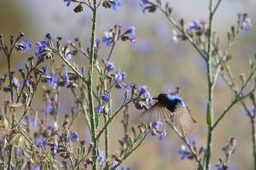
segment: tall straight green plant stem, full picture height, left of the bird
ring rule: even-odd
[[[91,40],[90,40],[90,65],[88,71],[88,101],[89,101],[89,109],[90,109],[90,126],[91,126],[91,139],[94,143],[92,148],[92,156],[97,156],[98,151],[98,141],[96,139],[96,113],[94,110],[94,99],[93,99],[93,70],[95,63],[95,40],[96,40],[96,0],[93,0],[93,9],[92,9],[92,28],[91,28]],[[92,166],[93,170],[97,169],[97,163],[94,162]]]

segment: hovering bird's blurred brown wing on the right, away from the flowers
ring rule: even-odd
[[[195,119],[191,116],[189,108],[179,106],[172,113],[171,122],[183,133],[190,133],[195,130]]]

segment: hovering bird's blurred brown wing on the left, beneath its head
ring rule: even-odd
[[[160,104],[159,102],[149,108],[147,111],[142,113],[143,122],[166,122],[170,121],[172,112],[169,111],[165,105]]]

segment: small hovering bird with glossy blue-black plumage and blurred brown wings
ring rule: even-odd
[[[152,99],[156,99],[157,103],[143,112],[143,116],[148,117],[151,122],[171,121],[183,133],[195,130],[195,119],[191,116],[188,105],[177,93],[159,94]]]

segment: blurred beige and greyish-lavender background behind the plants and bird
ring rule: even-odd
[[[103,9],[99,12],[96,37],[101,38],[104,31],[108,31],[115,24],[123,28],[135,26],[137,42],[119,42],[113,53],[112,61],[116,68],[122,68],[127,73],[129,82],[146,85],[149,92],[156,96],[160,92],[168,92],[180,87],[181,96],[189,105],[192,115],[198,122],[195,133],[189,135],[189,140],[195,140],[198,145],[207,141],[207,76],[206,65],[199,54],[195,52],[188,42],[173,42],[172,25],[166,20],[164,14],[143,14],[139,0],[120,0],[121,7],[116,11]],[[173,7],[175,19],[183,17],[187,24],[192,20],[207,20],[208,2],[205,0],[179,0],[169,1]],[[226,0],[221,3],[214,20],[214,30],[218,32],[223,48],[226,45],[226,33],[231,25],[236,25],[238,13],[247,13],[254,20],[256,2],[253,0]],[[73,13],[75,5],[66,7],[62,0],[1,0],[0,1],[0,33],[4,37],[24,31],[31,42],[44,39],[46,33],[54,37],[61,36],[66,40],[80,37],[85,46],[88,46],[90,35],[90,11]],[[256,29],[247,34],[240,35],[232,48],[233,59],[231,65],[236,80],[241,72],[248,73],[248,60],[255,54]],[[102,56],[107,55],[109,48],[102,44]],[[26,54],[16,54],[13,69],[23,67],[28,57]],[[83,61],[82,58],[78,61]],[[6,59],[0,54],[1,73],[6,72]],[[67,90],[63,90],[63,96]],[[121,94],[119,94],[121,95]],[[226,88],[224,81],[219,78],[215,91],[214,109],[216,116],[230,103],[233,94]],[[1,99],[6,98],[2,96]],[[68,112],[72,107],[73,99],[62,99],[61,111]],[[117,98],[118,100],[118,98]],[[42,109],[39,103],[40,94],[34,108]],[[113,101],[114,103],[114,101]],[[249,104],[248,104],[249,105]],[[131,121],[135,124],[140,111],[130,110]],[[119,116],[110,127],[110,149],[112,152],[119,149],[117,139],[123,132],[117,132],[121,127]],[[82,124],[83,125],[83,124]],[[79,138],[90,140],[89,133],[80,123],[73,126],[79,132]],[[232,156],[230,169],[253,169],[253,151],[251,140],[251,127],[246,113],[241,105],[236,105],[228,116],[219,124],[214,133],[212,166],[218,162],[218,157],[224,156],[222,147],[227,144],[230,137],[237,139],[236,154]],[[149,137],[134,155],[129,157],[124,166],[137,170],[154,169],[194,169],[195,162],[180,161],[177,151],[183,144],[176,134],[168,129],[167,136],[162,141]],[[102,147],[103,150],[103,147]]]

